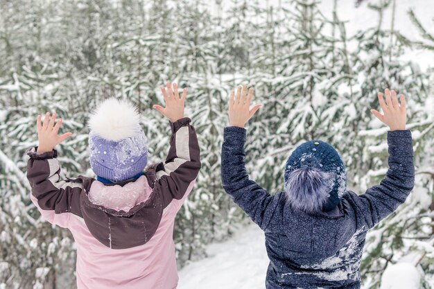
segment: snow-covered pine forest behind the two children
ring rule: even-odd
[[[350,18],[369,25],[355,30]],[[44,222],[29,199],[24,152],[37,145],[37,114],[58,112],[73,132],[58,146],[63,175],[93,175],[87,115],[104,98],[128,98],[152,163],[168,152],[168,122],[152,109],[167,80],[189,88],[186,115],[202,150],[175,224],[180,268],[248,222],[220,182],[230,89],[248,83],[263,104],[246,145],[259,184],[283,189],[291,150],[315,138],[338,149],[349,189],[364,193],[388,168],[388,128],[369,109],[390,87],[406,94],[416,183],[368,235],[364,288],[380,288],[401,262],[419,272],[420,288],[434,288],[433,24],[430,0],[0,0],[0,288],[76,288],[71,234]]]

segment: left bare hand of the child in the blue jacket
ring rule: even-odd
[[[231,126],[238,126],[244,128],[245,123],[252,118],[255,112],[259,110],[261,105],[254,105],[250,109],[250,103],[252,103],[253,89],[247,90],[247,85],[243,87],[239,86],[236,95],[232,90],[229,97],[229,124]]]

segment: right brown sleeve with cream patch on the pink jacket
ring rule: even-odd
[[[173,199],[180,200],[198,176],[200,170],[200,149],[198,137],[191,119],[184,117],[172,123],[170,148],[164,163],[164,169],[155,174],[163,196],[163,205],[167,207]]]

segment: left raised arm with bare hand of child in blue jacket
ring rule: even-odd
[[[246,139],[245,123],[261,107],[255,105],[250,110],[253,89],[248,91],[238,87],[236,96],[232,91],[229,99],[229,123],[225,128],[221,157],[221,174],[225,191],[234,202],[256,222],[261,229],[266,230],[270,224],[276,206],[277,196],[270,195],[256,182],[249,179],[245,170],[244,144]]]

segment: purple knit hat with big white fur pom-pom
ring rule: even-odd
[[[99,177],[119,182],[144,170],[148,162],[146,136],[136,107],[109,98],[89,119],[89,161]]]

